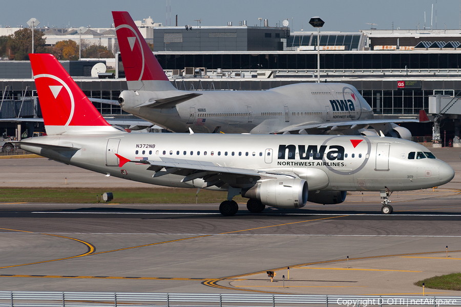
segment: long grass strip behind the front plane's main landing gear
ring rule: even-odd
[[[112,203],[120,204],[190,204],[196,201],[196,189],[184,188],[0,188],[0,202],[5,203],[96,203],[104,192],[112,192]],[[201,190],[197,202],[220,203],[227,192]],[[246,202],[241,196],[236,202]]]

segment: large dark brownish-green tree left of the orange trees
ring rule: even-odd
[[[35,53],[47,52],[48,49],[45,46],[46,39],[43,37],[44,35],[45,34],[43,32],[34,30]],[[10,49],[10,57],[14,57],[15,60],[28,60],[29,53],[32,51],[31,29],[24,28],[14,32],[14,34],[11,35],[9,44],[7,43],[7,49],[8,48]]]

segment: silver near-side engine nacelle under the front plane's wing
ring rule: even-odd
[[[242,196],[276,208],[301,208],[306,205],[308,188],[304,179],[268,179],[242,191]]]

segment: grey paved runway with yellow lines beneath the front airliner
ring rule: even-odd
[[[459,152],[435,153],[453,182],[392,194],[392,215],[376,192],[233,217],[218,204],[2,203],[2,290],[421,294],[414,281],[461,261]]]

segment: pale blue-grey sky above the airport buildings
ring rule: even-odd
[[[177,14],[180,27],[195,27],[197,19],[202,26],[227,26],[228,21],[238,26],[242,20],[259,26],[258,18],[275,27],[288,19],[291,31],[314,30],[309,19],[320,16],[324,31],[358,32],[369,29],[368,24],[382,30],[392,29],[392,24],[394,29],[423,29],[426,12],[426,29],[431,29],[432,5],[432,29],[460,28],[461,0],[4,0],[0,26],[27,27],[34,17],[39,27],[109,28],[111,11],[128,11],[134,20],[151,16],[163,26],[170,26],[170,20],[174,26]]]

